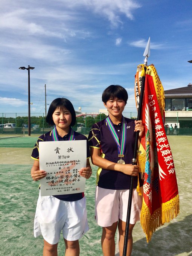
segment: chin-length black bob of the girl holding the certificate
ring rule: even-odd
[[[49,125],[55,125],[55,123],[53,122],[52,116],[57,108],[60,111],[64,111],[67,109],[71,113],[72,121],[70,126],[74,126],[76,123],[75,109],[73,108],[72,103],[65,98],[57,98],[51,102],[47,116],[46,116],[46,122],[49,123]]]

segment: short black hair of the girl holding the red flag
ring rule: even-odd
[[[109,101],[110,99],[122,99],[123,101],[125,101],[125,104],[128,100],[128,93],[125,90],[125,88],[123,88],[120,85],[110,85],[108,86],[102,94],[102,101],[106,104],[107,101]]]

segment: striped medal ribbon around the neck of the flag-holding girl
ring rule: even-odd
[[[113,136],[113,139],[115,140],[118,148],[118,154],[119,155],[125,155],[125,142],[126,142],[126,123],[125,123],[125,117],[122,116],[122,130],[121,130],[121,138],[120,138],[120,143],[119,143],[119,137],[117,135],[117,132],[114,128],[113,123],[111,122],[111,119],[108,117],[105,118],[108,128]]]

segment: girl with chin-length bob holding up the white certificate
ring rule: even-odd
[[[65,98],[55,99],[49,107],[46,117],[49,125],[55,125],[52,131],[39,137],[32,151],[35,160],[31,169],[33,180],[37,181],[46,176],[46,172],[39,167],[39,142],[87,140],[87,138],[73,131],[76,114],[72,103]],[[87,141],[87,166],[79,170],[79,174],[90,178],[90,151]],[[88,231],[86,201],[84,193],[44,196],[39,195],[34,221],[34,236],[43,235],[43,256],[56,256],[57,245],[61,230],[66,245],[66,256],[79,256],[79,239]]]

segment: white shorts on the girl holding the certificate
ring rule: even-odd
[[[57,244],[61,230],[68,241],[80,239],[89,230],[86,198],[62,201],[53,196],[39,195],[34,220],[34,236],[43,235],[49,244]]]

